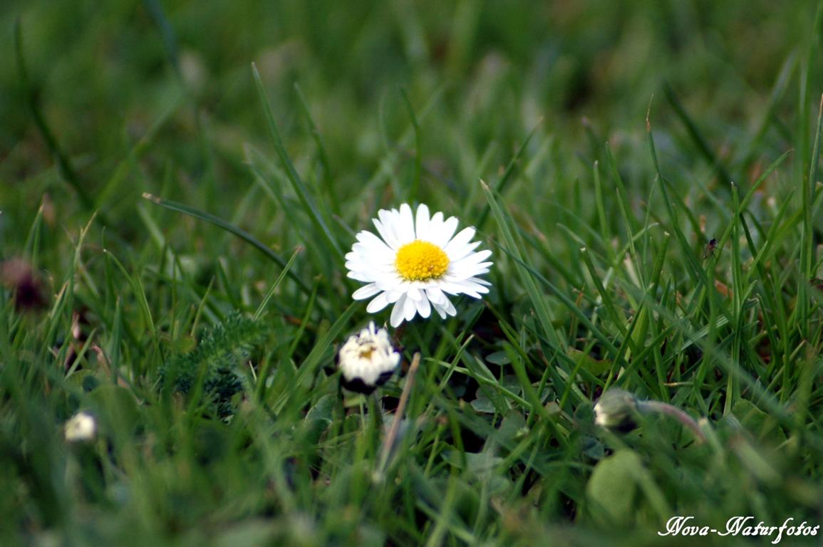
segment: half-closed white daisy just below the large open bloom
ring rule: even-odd
[[[400,354],[388,340],[388,331],[369,323],[359,334],[349,336],[337,353],[343,387],[352,392],[371,393],[392,377]]]

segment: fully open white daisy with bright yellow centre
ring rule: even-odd
[[[491,284],[477,276],[489,271],[491,262],[485,261],[491,251],[475,252],[480,242],[472,242],[474,228],[454,234],[455,217],[444,219],[441,212],[430,216],[422,203],[414,215],[403,203],[399,211],[380,210],[377,216],[373,222],[379,237],[361,231],[346,254],[348,276],[366,283],[352,298],[374,297],[366,311],[375,313],[394,304],[391,325],[398,327],[418,313],[428,318],[432,308],[441,318],[456,315],[449,294],[479,299],[489,292]]]

